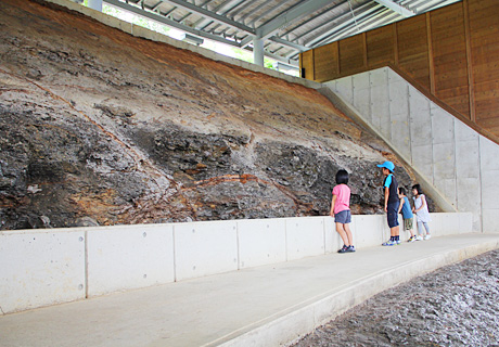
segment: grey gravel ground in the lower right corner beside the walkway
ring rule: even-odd
[[[305,346],[499,346],[499,250],[383,292],[305,336]]]

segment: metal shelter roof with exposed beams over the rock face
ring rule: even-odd
[[[104,0],[191,37],[298,65],[299,53],[460,0]]]

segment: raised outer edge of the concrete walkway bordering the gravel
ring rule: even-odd
[[[315,303],[298,305],[302,307],[277,319],[269,318],[266,322],[252,324],[259,326],[246,326],[244,330],[251,330],[239,336],[235,336],[239,333],[236,331],[203,347],[290,346],[315,329],[383,291],[435,271],[438,268],[498,248],[499,240],[492,240],[400,264],[393,270],[380,271],[349,283],[341,291],[317,299]],[[400,271],[400,268],[404,271]]]

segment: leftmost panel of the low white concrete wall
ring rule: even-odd
[[[1,313],[84,299],[85,244],[75,229],[0,232]]]

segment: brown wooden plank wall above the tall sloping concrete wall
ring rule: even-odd
[[[499,0],[463,0],[348,37],[302,53],[300,65],[320,82],[391,66],[499,143]]]

